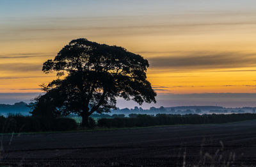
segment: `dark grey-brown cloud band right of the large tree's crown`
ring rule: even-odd
[[[149,58],[153,68],[168,68],[168,70],[200,70],[214,68],[255,67],[256,54],[241,52],[180,54],[179,56],[162,56]]]

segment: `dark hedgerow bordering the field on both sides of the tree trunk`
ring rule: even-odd
[[[108,116],[108,115],[107,115]],[[100,118],[95,122],[89,119],[89,127],[148,127],[156,125],[182,125],[228,123],[256,119],[256,114],[230,114],[230,115],[114,115],[109,118]],[[1,133],[12,132],[42,132],[42,131],[71,131],[76,130],[79,123],[72,118],[36,118],[35,116],[9,115],[0,116]]]

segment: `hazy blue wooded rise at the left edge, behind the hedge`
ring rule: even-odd
[[[25,102],[11,104],[0,104],[0,113],[24,113],[29,112],[29,107]]]

